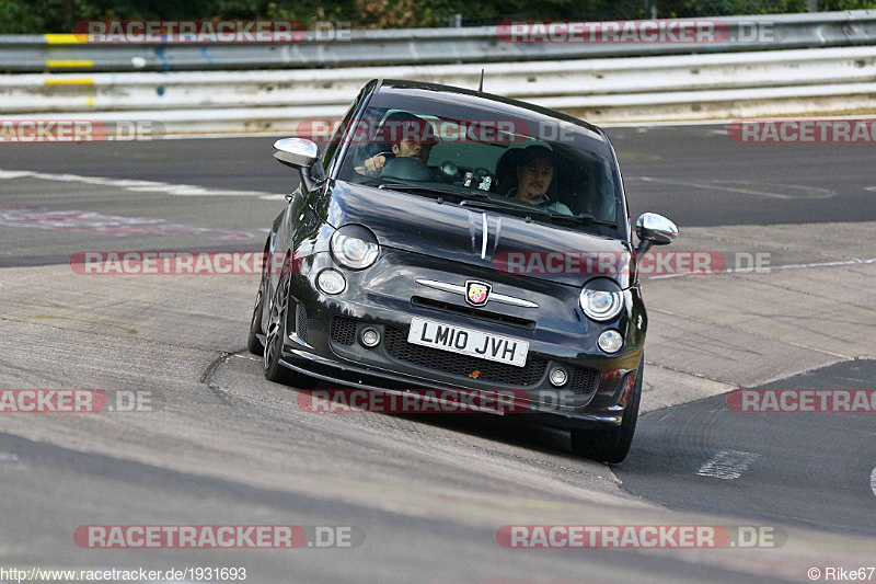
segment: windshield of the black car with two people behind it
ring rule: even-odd
[[[383,91],[349,133],[339,180],[570,228],[622,220],[611,148],[589,127],[486,98]]]

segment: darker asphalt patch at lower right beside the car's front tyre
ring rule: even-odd
[[[872,390],[876,362],[816,369],[759,389]],[[637,456],[618,470],[624,489],[669,508],[733,514],[876,536],[874,413],[739,412],[727,396],[639,419]],[[715,453],[752,459],[737,478],[700,473]],[[741,454],[745,454],[744,457]]]

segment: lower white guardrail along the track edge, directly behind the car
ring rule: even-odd
[[[288,133],[337,119],[369,79],[476,88],[481,67],[0,76],[0,114]],[[876,46],[485,67],[485,91],[597,123],[876,113]]]

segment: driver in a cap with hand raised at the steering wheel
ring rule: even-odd
[[[356,172],[368,176],[378,176],[387,162],[395,157],[415,158],[426,164],[431,147],[438,144],[438,137],[431,124],[405,112],[390,114],[378,130],[378,136],[390,138],[390,151],[379,152],[356,167]]]

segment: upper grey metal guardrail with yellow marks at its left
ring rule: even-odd
[[[702,20],[702,19],[688,19]],[[0,37],[0,71],[289,69],[440,62],[557,60],[690,53],[838,47],[876,42],[876,11],[728,16],[721,43],[506,43],[495,26],[351,31],[348,42],[284,45],[87,44],[72,34]],[[769,27],[770,38],[741,32]],[[734,32],[736,31],[736,32]]]

